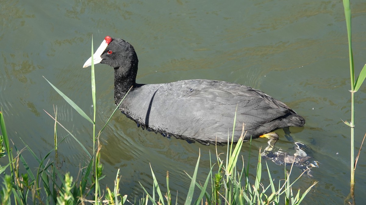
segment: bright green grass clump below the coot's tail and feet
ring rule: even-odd
[[[234,133],[233,133],[234,135]],[[241,136],[243,139],[243,134]],[[310,189],[317,184],[314,182],[305,192],[300,193],[300,190],[294,192],[292,190],[292,186],[294,183],[306,172],[304,171],[298,178],[295,179],[294,182],[290,182],[290,175],[292,171],[285,172],[284,179],[280,180],[278,185],[275,185],[275,182],[272,180],[269,167],[266,163],[266,167],[268,170],[268,178],[269,185],[264,186],[261,183],[262,176],[262,162],[261,162],[261,154],[259,150],[258,155],[258,165],[256,171],[256,177],[254,179],[254,184],[251,183],[249,177],[249,160],[247,163],[247,169],[244,166],[244,159],[242,158],[242,170],[236,169],[236,161],[239,158],[239,151],[242,148],[242,140],[238,141],[238,144],[234,147],[233,151],[228,151],[225,160],[220,158],[221,154],[216,154],[217,163],[211,165],[211,169],[206,180],[203,183],[196,182],[197,170],[199,166],[199,159],[201,154],[199,154],[197,159],[197,164],[195,166],[195,170],[193,175],[187,176],[191,179],[191,185],[187,192],[187,198],[184,204],[221,204],[221,205],[229,205],[229,204],[291,204],[298,205],[305,198],[306,194],[309,193]],[[228,150],[229,150],[228,146]],[[232,147],[231,147],[232,148]],[[230,148],[230,150],[231,150]],[[217,172],[215,173],[214,167],[217,167]],[[142,186],[143,190],[146,193],[146,199],[149,199],[150,202],[154,205],[158,204],[178,204],[178,201],[175,202],[171,199],[170,190],[169,190],[169,175],[167,174],[167,192],[164,195],[161,192],[160,187],[158,186],[157,179],[154,175],[153,170],[151,170],[153,176],[153,193],[149,194],[146,189]],[[283,181],[283,182],[281,182]],[[244,184],[242,184],[244,182]],[[209,185],[210,183],[210,185]],[[277,189],[275,187],[278,187]],[[194,189],[199,189],[199,196],[193,201]],[[155,192],[158,197],[155,197]],[[177,197],[178,198],[178,197]],[[282,201],[281,201],[282,200]],[[193,201],[193,203],[192,203]]]

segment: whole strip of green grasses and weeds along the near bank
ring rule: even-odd
[[[93,56],[93,40],[91,47],[91,56]],[[114,182],[114,187],[100,187],[100,180],[104,178],[103,165],[100,159],[101,146],[99,144],[99,136],[108,124],[113,114],[119,110],[117,106],[115,111],[111,114],[104,127],[96,134],[96,95],[95,95],[95,76],[94,76],[94,59],[92,59],[91,66],[91,94],[93,98],[94,115],[93,120],[86,115],[70,98],[57,89],[46,78],[46,81],[58,92],[81,116],[93,124],[93,153],[89,153],[87,148],[65,128],[59,121],[57,121],[57,107],[54,108],[54,116],[46,112],[54,121],[54,141],[55,147],[52,148],[43,158],[39,158],[32,149],[27,146],[25,142],[25,148],[18,150],[15,144],[10,144],[10,136],[7,135],[4,115],[0,112],[0,157],[8,156],[8,164],[0,165],[0,174],[3,175],[3,182],[0,185],[0,198],[1,204],[182,204],[178,202],[178,194],[175,198],[172,198],[172,194],[169,190],[169,173],[167,171],[166,190],[162,190],[154,175],[154,171],[151,169],[153,177],[153,191],[147,192],[145,187],[141,185],[143,192],[141,197],[136,198],[135,201],[127,200],[127,195],[120,193],[119,170]],[[234,118],[235,122],[235,118]],[[235,126],[235,125],[234,125]],[[60,136],[57,136],[57,129],[62,127],[68,132],[68,135],[60,140]],[[241,139],[245,136],[244,127]],[[86,153],[85,166],[79,171],[77,179],[71,176],[70,173],[60,173],[55,166],[49,155],[55,151],[57,158],[57,146],[63,142],[67,137],[72,137],[82,147]],[[234,132],[232,136],[234,136]],[[59,139],[59,140],[57,140]],[[228,135],[229,139],[229,135]],[[229,141],[229,140],[228,140]],[[224,158],[221,158],[222,154],[217,153],[216,160],[211,159],[211,169],[207,175],[205,182],[196,181],[197,171],[199,166],[199,159],[201,154],[198,155],[197,164],[193,175],[187,174],[187,177],[191,179],[190,186],[187,187],[187,198],[184,204],[300,204],[309,193],[310,189],[317,183],[314,182],[305,192],[300,193],[300,190],[293,191],[292,186],[294,183],[305,173],[305,171],[294,180],[290,182],[290,175],[293,164],[290,171],[285,168],[284,179],[278,183],[272,179],[268,165],[266,168],[268,171],[269,185],[263,185],[262,179],[262,159],[259,150],[258,165],[256,175],[253,181],[249,177],[249,160],[247,168],[245,169],[243,156],[241,158],[242,170],[237,169],[238,159],[240,158],[240,150],[242,148],[243,141],[239,140],[236,145],[228,144],[227,153]],[[14,153],[13,153],[14,152]],[[38,163],[37,169],[30,169],[28,163],[23,158],[23,152],[30,152],[33,158]],[[210,155],[211,157],[211,155]],[[87,163],[89,162],[89,163]],[[23,166],[23,167],[20,167]],[[151,168],[151,165],[150,165]],[[26,170],[25,173],[21,173],[20,170]],[[252,172],[251,172],[252,173]],[[198,189],[198,192],[197,192]],[[195,192],[196,190],[196,192]],[[185,190],[181,190],[185,192]],[[199,193],[197,197],[196,194]],[[196,198],[194,198],[196,197]]]

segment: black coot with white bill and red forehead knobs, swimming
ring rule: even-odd
[[[94,64],[114,68],[116,105],[138,126],[188,142],[227,143],[235,109],[234,142],[247,131],[245,141],[268,137],[283,127],[302,127],[303,117],[269,95],[248,86],[214,80],[182,80],[164,84],[137,84],[138,59],[134,47],[123,39],[105,37],[94,53]],[[83,67],[91,65],[91,57]],[[231,140],[231,137],[230,137]]]

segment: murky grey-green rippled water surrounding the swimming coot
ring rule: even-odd
[[[314,181],[304,204],[341,204],[349,192],[350,118],[348,45],[340,1],[1,1],[0,106],[16,146],[24,140],[42,156],[53,147],[53,121],[45,113],[57,106],[59,120],[89,150],[91,124],[78,115],[44,76],[92,113],[90,69],[82,65],[94,46],[110,35],[130,42],[139,57],[138,83],[184,79],[236,82],[262,90],[285,102],[306,119],[304,128],[291,128],[294,140],[313,149],[321,165],[314,178],[302,177],[294,187],[305,190]],[[355,67],[366,63],[366,3],[352,1],[352,40]],[[96,66],[97,124],[100,129],[115,108],[113,70]],[[356,149],[366,132],[366,85],[356,93]],[[45,111],[44,111],[45,110]],[[193,125],[192,125],[193,126]],[[66,132],[59,129],[59,136]],[[283,136],[283,131],[278,132]],[[170,187],[185,198],[201,149],[199,179],[209,169],[214,146],[188,144],[137,128],[120,112],[101,136],[102,161],[111,185],[121,169],[123,194],[142,196],[138,182],[152,187],[149,163],[161,184],[169,170]],[[250,160],[256,166],[253,142]],[[281,137],[276,146],[293,146]],[[249,156],[249,144],[242,150]],[[224,152],[226,147],[219,147]],[[25,152],[26,153],[26,152]],[[356,200],[366,200],[366,152],[356,169]],[[62,170],[75,176],[87,158],[68,137],[59,145]],[[0,162],[4,159],[0,159]],[[29,162],[32,165],[32,157]],[[34,162],[34,167],[37,166]],[[269,163],[272,177],[283,178],[283,167]],[[254,173],[254,169],[253,169]],[[298,175],[300,170],[294,170]]]

